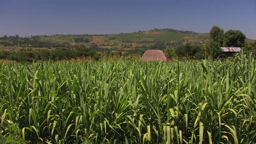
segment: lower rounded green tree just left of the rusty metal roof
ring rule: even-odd
[[[203,48],[206,52],[206,55],[210,56],[213,59],[217,58],[222,53],[222,49],[220,49],[220,44],[216,41],[208,41],[208,43],[203,45]]]

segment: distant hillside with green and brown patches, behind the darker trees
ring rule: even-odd
[[[205,43],[208,39],[208,34],[194,33],[190,31],[177,31],[174,29],[152,29],[151,31],[109,34],[109,35],[36,35],[26,38],[21,38],[19,35],[7,37],[4,35],[0,39],[2,49],[28,49],[30,47],[67,47],[75,44],[96,43],[102,48],[118,49],[124,48],[122,44],[142,46],[143,44],[152,45],[154,41],[165,41],[170,44],[183,43]]]

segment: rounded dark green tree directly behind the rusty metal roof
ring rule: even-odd
[[[230,29],[223,35],[223,46],[242,47],[245,40],[246,36],[241,31]]]

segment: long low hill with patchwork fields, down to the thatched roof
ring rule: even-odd
[[[89,46],[96,44],[97,52],[137,53],[139,49],[154,48],[160,42],[167,46],[177,47],[182,44],[201,45],[210,39],[208,33],[179,31],[176,29],[151,29],[120,34],[100,35],[36,35],[31,37],[4,36],[0,38],[0,51],[54,50],[56,48],[72,49],[75,45]],[[252,41],[247,39],[247,41]]]

